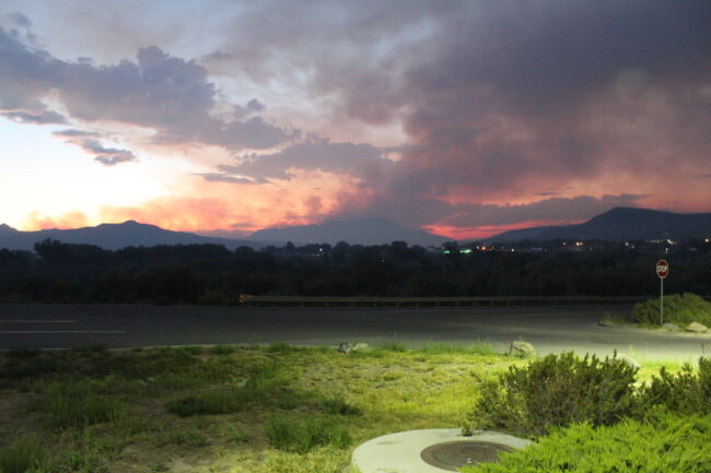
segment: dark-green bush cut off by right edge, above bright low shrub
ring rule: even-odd
[[[676,375],[662,367],[658,377],[640,388],[640,404],[644,411],[663,405],[680,414],[711,413],[711,359],[699,359],[698,375],[688,364]]]

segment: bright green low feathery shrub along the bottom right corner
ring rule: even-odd
[[[658,414],[651,422],[625,419],[594,428],[553,429],[537,444],[465,473],[708,473],[711,416]]]

